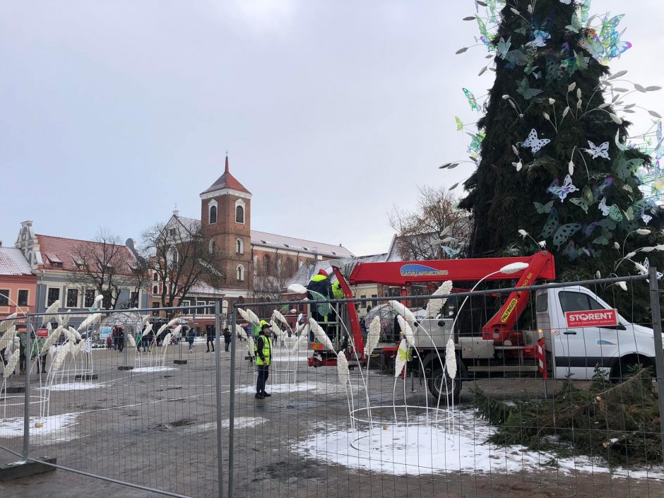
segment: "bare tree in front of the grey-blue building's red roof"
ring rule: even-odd
[[[97,294],[104,296],[106,309],[116,309],[122,289],[141,286],[136,280],[134,254],[120,243],[117,235],[107,230],[100,229],[93,241],[80,241],[73,256],[76,271],[70,273],[69,280],[78,285],[81,292],[93,287]]]

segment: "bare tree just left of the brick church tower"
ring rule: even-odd
[[[223,254],[205,242],[200,222],[185,220],[174,217],[143,232],[144,257],[162,283],[162,307],[176,306],[195,285],[221,287],[226,278],[220,271]]]

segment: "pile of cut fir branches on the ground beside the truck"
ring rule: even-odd
[[[480,417],[497,426],[487,441],[492,444],[601,457],[611,466],[662,463],[658,396],[649,369],[634,369],[621,384],[595,370],[588,389],[567,379],[552,400],[508,405],[479,386],[473,394]]]

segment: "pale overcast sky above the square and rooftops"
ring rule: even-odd
[[[595,0],[625,13],[634,47],[612,70],[664,86],[664,2]],[[251,227],[384,252],[387,214],[470,165],[461,88],[493,73],[471,0],[4,0],[0,3],[0,239],[122,239],[231,172]],[[639,95],[664,113],[664,93]],[[642,127],[648,119],[635,119]]]

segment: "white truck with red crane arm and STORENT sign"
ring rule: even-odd
[[[528,287],[537,281],[555,279],[554,259],[547,251],[509,258],[357,263],[348,280],[340,264],[331,263],[348,299],[353,297],[350,285],[363,283],[400,287],[401,295],[406,295],[406,286],[414,283],[516,280],[514,287]],[[501,268],[512,263],[525,263],[525,266],[514,273],[501,273]],[[622,377],[622,372],[627,372],[631,364],[654,364],[653,330],[629,323],[586,287],[537,290],[536,327],[517,331],[518,319],[528,306],[529,297],[528,290],[511,292],[475,334],[464,331],[463,326],[452,330],[451,317],[420,321],[413,340],[413,360],[407,364],[408,371],[419,372],[425,377],[434,397],[456,398],[463,379],[504,374],[533,376],[538,372],[544,378],[562,379],[571,374],[574,379],[590,379],[596,365],[612,377]],[[348,345],[346,355],[350,361],[359,358],[360,362],[366,362],[355,304],[349,303],[347,310],[346,322],[350,324],[357,354]],[[458,365],[458,378],[453,383],[444,379],[443,364],[444,348],[450,337],[456,343]],[[309,358],[310,366],[336,364],[336,357],[326,355],[320,345],[314,349],[318,351]],[[388,358],[393,357],[396,345],[382,347],[379,352]]]

